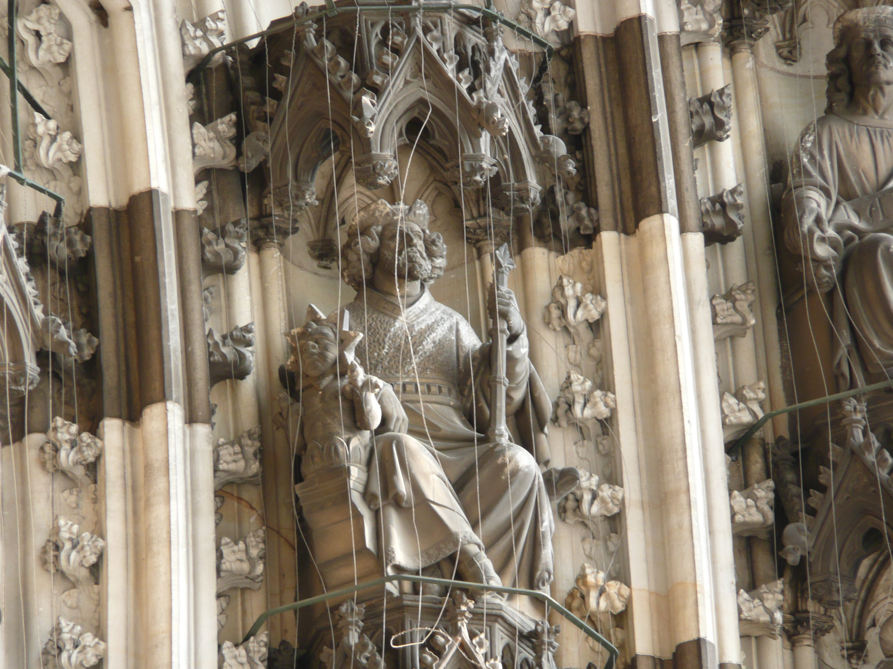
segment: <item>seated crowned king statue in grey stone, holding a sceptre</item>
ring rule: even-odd
[[[490,290],[490,316],[504,324],[505,414],[521,445],[485,436],[496,416],[491,344],[431,296],[447,249],[428,219],[421,201],[360,211],[342,248],[355,300],[328,318],[312,308],[291,335],[292,395],[304,407],[305,481],[296,490],[314,553],[333,566],[328,574],[339,560],[344,574],[345,556],[328,547],[344,540],[349,520],[355,535],[374,528],[359,539],[375,555],[327,587],[377,569],[542,590],[553,577],[554,521],[539,468],[549,459],[551,404],[513,293]],[[345,466],[354,467],[351,509],[360,511],[349,519],[321,502],[344,489],[331,477]],[[360,564],[355,551],[348,557]]]

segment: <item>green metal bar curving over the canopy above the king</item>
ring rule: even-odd
[[[13,2],[13,0],[10,0]],[[546,50],[546,53],[543,55],[543,60],[539,63],[539,69],[537,70],[537,75],[530,82],[530,86],[536,86],[542,78],[546,75],[548,70],[549,62],[552,61],[552,56],[555,54],[555,48],[550,45],[547,40],[539,37],[534,34],[530,29],[524,28],[522,25],[519,25],[515,21],[511,19],[506,19],[501,13],[496,12],[492,7],[491,0],[487,0],[487,6],[480,7],[477,4],[447,4],[447,3],[432,3],[432,4],[381,4],[381,5],[373,5],[368,7],[357,7],[354,6],[345,6],[345,7],[337,7],[335,6],[334,0],[325,0],[326,9],[322,12],[313,12],[312,14],[307,14],[303,17],[292,17],[291,20],[285,21],[282,25],[277,26],[273,29],[262,30],[261,32],[255,32],[254,35],[248,35],[247,37],[241,37],[240,39],[236,39],[228,44],[216,46],[211,51],[208,52],[207,55],[204,56],[201,62],[199,62],[196,67],[192,70],[189,70],[187,75],[187,81],[190,81],[192,84],[198,83],[198,74],[204,70],[208,64],[212,61],[213,57],[219,54],[221,51],[225,51],[226,49],[230,49],[233,46],[244,44],[246,42],[251,42],[255,39],[261,39],[265,37],[269,37],[270,35],[275,35],[276,33],[283,32],[284,30],[288,30],[291,28],[298,28],[306,23],[311,23],[313,21],[320,20],[323,15],[325,16],[337,16],[338,14],[352,14],[356,12],[449,12],[454,10],[465,10],[468,12],[478,12],[481,16],[487,17],[490,21],[497,21],[497,23],[501,23],[506,28],[512,29],[513,32],[522,35],[523,37],[527,37],[533,42],[535,45],[541,46]]]

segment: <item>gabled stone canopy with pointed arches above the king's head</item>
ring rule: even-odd
[[[352,154],[359,186],[388,186],[399,178],[401,145],[438,165],[455,197],[465,197],[469,219],[488,213],[476,189],[488,186],[500,204],[520,209],[573,173],[562,139],[539,128],[530,85],[499,28],[447,12],[363,12],[354,36],[354,21],[327,21],[325,34],[313,25],[299,32],[288,60],[291,89],[280,103],[288,113],[271,125],[273,211],[295,216],[313,206],[317,171],[338,153]],[[345,56],[354,49],[350,70]],[[585,121],[574,109],[564,103],[562,114],[575,130]]]

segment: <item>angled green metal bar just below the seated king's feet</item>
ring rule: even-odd
[[[392,574],[390,576],[382,576],[381,578],[377,578],[372,581],[355,583],[355,585],[348,585],[345,588],[339,588],[336,591],[327,592],[323,595],[317,595],[316,597],[301,599],[301,601],[296,601],[293,604],[286,604],[284,607],[271,608],[269,611],[264,611],[257,617],[257,620],[255,620],[255,624],[253,624],[251,626],[251,629],[248,630],[245,635],[245,639],[242,640],[242,643],[245,643],[247,640],[251,639],[251,637],[255,636],[257,632],[260,632],[263,624],[266,623],[267,619],[270,618],[272,615],[279,615],[281,613],[285,613],[286,611],[296,611],[299,608],[311,607],[314,604],[321,604],[322,602],[328,601],[329,599],[343,597],[345,595],[353,594],[356,591],[368,590],[369,588],[375,588],[379,585],[384,585],[385,583],[395,581],[431,583],[433,585],[443,585],[448,588],[472,588],[474,590],[504,592],[505,594],[510,595],[526,595],[527,597],[538,599],[539,601],[547,604],[547,606],[554,608],[555,611],[563,615],[564,618],[567,619],[572,625],[574,625],[575,627],[579,627],[580,630],[585,632],[590,639],[595,640],[602,648],[605,648],[605,650],[608,651],[608,658],[607,660],[605,660],[605,666],[603,667],[603,669],[613,669],[617,663],[617,656],[620,655],[620,651],[618,651],[617,648],[615,648],[609,640],[605,639],[605,637],[593,630],[591,627],[588,626],[588,624],[581,621],[580,618],[578,618],[576,615],[573,615],[565,607],[556,602],[555,599],[549,597],[545,592],[523,590],[522,588],[510,588],[505,585],[481,585],[480,583],[452,581],[447,578],[435,578],[433,576],[416,576],[413,574]]]

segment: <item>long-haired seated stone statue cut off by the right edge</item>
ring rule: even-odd
[[[833,290],[841,389],[893,370],[893,7],[843,13],[828,107],[791,157],[785,240],[806,285]]]

